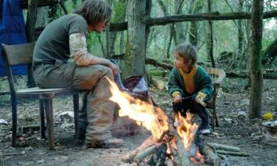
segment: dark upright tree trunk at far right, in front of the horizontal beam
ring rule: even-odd
[[[263,0],[253,0],[251,11],[251,49],[250,49],[250,108],[249,118],[261,118],[262,102],[262,10]]]

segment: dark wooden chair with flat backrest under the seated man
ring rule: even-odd
[[[52,99],[57,95],[73,95],[74,107],[74,122],[75,122],[75,137],[79,138],[78,118],[79,118],[79,105],[78,105],[78,90],[71,88],[64,89],[39,89],[38,87],[29,89],[15,89],[13,76],[10,66],[17,64],[28,65],[28,78],[33,79],[33,49],[35,43],[30,44],[17,44],[6,45],[2,44],[3,60],[6,67],[8,76],[8,83],[10,86],[10,100],[12,103],[12,147],[16,145],[17,138],[17,100],[29,99],[39,100],[39,116],[40,116],[40,131],[41,137],[45,138],[45,125],[44,125],[44,111],[46,113],[48,141],[50,149],[55,149],[55,133],[53,126],[53,108]],[[30,80],[28,80],[30,81]]]

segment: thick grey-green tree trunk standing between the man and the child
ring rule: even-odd
[[[127,1],[127,48],[123,77],[143,75],[145,77],[145,0]]]

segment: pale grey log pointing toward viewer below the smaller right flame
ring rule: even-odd
[[[190,165],[190,158],[188,155],[188,151],[186,151],[184,144],[181,141],[181,138],[179,136],[177,136],[176,146],[177,146],[177,154],[178,154],[179,160],[181,161],[181,166]]]

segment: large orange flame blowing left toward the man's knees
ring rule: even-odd
[[[168,117],[159,107],[154,107],[152,104],[133,98],[126,92],[121,92],[118,86],[114,82],[111,82],[111,80],[109,80],[109,83],[111,84],[111,98],[109,100],[119,105],[119,116],[128,116],[136,120],[138,124],[150,130],[152,135],[157,139],[161,138],[162,134],[168,131]]]

